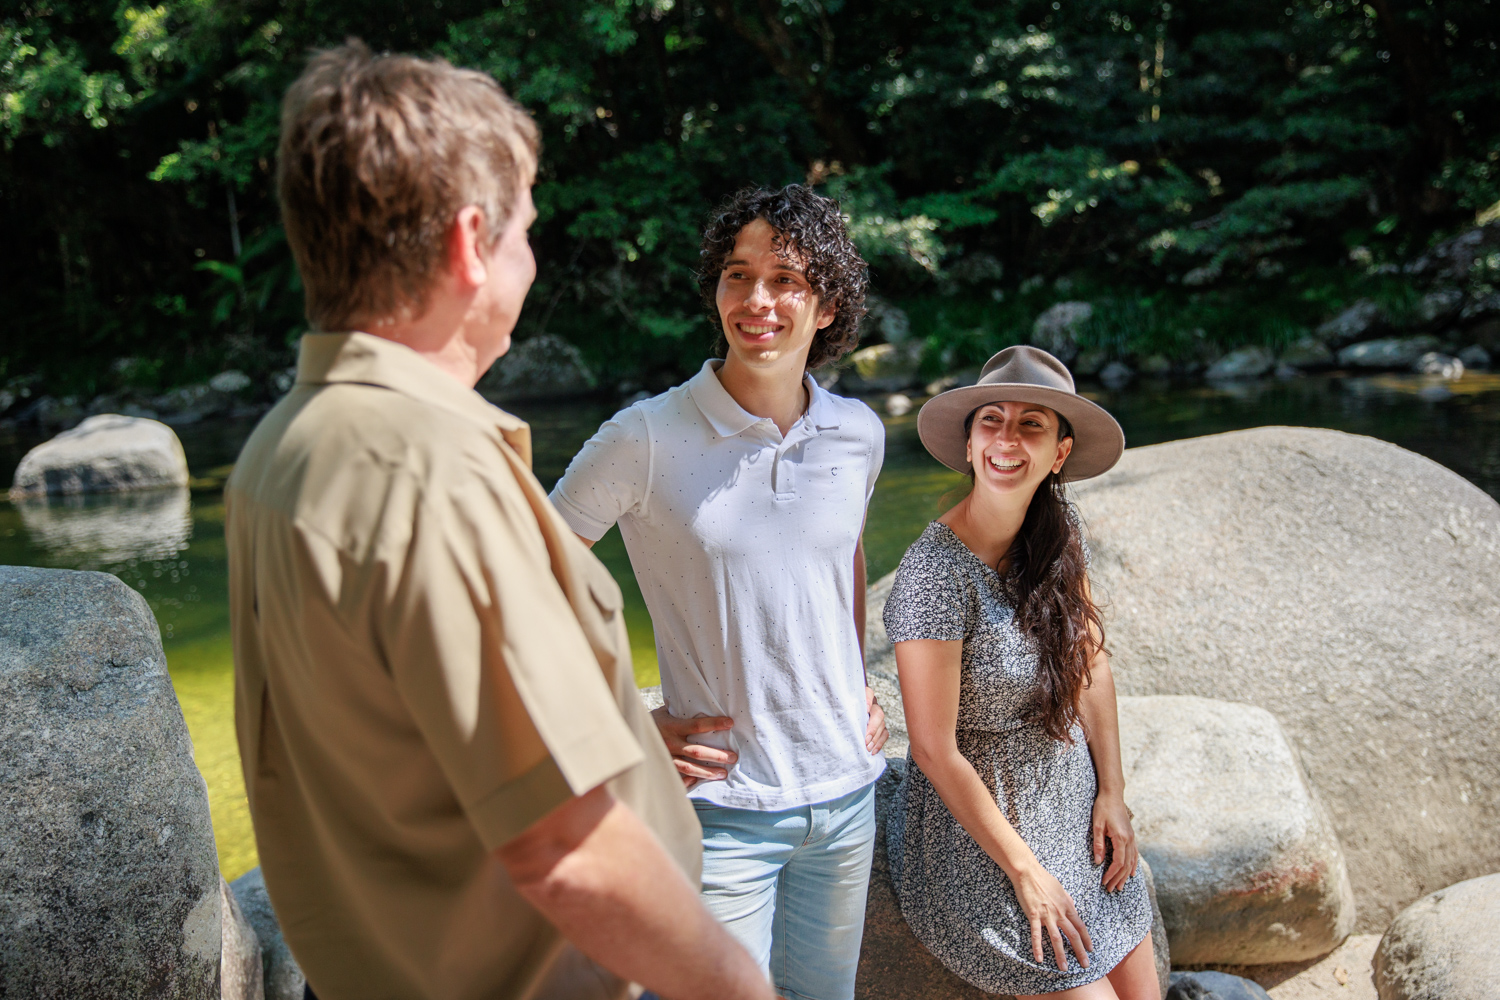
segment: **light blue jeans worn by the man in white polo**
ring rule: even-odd
[[[874,784],[762,813],[693,801],[704,903],[790,1000],[854,1000],[874,856]]]

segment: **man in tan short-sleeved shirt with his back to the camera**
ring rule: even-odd
[[[225,490],[266,885],[322,1000],[765,1000],[694,892],[620,589],[526,424],[472,391],[536,276],[536,165],[525,112],[440,60],[351,40],[286,93],[282,216],[321,333]]]

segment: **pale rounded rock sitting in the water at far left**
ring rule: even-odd
[[[188,486],[188,456],[172,429],[156,420],[100,414],[27,451],[10,496],[164,486]]]

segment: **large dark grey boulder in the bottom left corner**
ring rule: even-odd
[[[146,600],[0,567],[0,996],[219,997],[219,865]]]

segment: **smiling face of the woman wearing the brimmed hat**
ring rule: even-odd
[[[969,427],[968,459],[975,490],[1029,498],[1059,472],[1072,453],[1072,438],[1059,441],[1062,421],[1040,403],[986,403]]]

